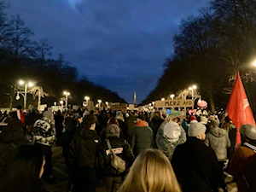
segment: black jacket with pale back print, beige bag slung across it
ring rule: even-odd
[[[119,151],[117,155],[126,162],[126,170],[122,174],[120,174],[116,169],[111,166],[111,159],[108,150],[107,140],[101,143],[99,149],[99,155],[97,159],[97,168],[98,171],[101,172],[102,176],[105,177],[119,177],[121,175],[125,175],[128,172],[130,166],[134,161],[134,155],[132,154],[129,143],[125,141],[125,139],[118,137],[109,137],[109,142],[113,149],[117,149]]]

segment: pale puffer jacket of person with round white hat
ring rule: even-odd
[[[172,140],[165,136],[164,134],[164,127],[167,122],[163,122],[160,125],[160,128],[157,132],[155,143],[157,148],[159,148],[164,154],[166,154],[166,157],[168,157],[170,160],[172,160],[172,154],[177,147],[177,145],[183,144],[187,141],[186,132],[183,130],[182,127],[180,127],[181,135],[178,140]]]

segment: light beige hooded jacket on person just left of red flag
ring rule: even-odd
[[[230,148],[230,138],[227,132],[221,128],[212,128],[208,133],[205,140],[208,147],[212,148],[218,158],[218,161],[227,158],[227,148]]]

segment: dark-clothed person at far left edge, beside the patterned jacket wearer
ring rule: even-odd
[[[0,133],[0,173],[3,172],[15,149],[28,144],[20,119],[8,118],[4,123],[6,124],[3,125]]]

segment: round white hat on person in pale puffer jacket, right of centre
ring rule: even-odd
[[[164,134],[168,139],[172,139],[172,142],[175,143],[181,135],[181,128],[177,123],[170,121],[164,126]]]

